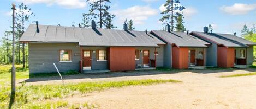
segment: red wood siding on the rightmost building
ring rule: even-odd
[[[218,67],[234,67],[234,52],[234,48],[218,47]]]

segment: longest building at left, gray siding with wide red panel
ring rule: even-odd
[[[165,43],[147,31],[31,24],[20,42],[28,43],[29,73],[68,70],[126,71],[163,67]]]

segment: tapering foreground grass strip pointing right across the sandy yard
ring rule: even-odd
[[[177,80],[127,80],[127,81],[109,81],[109,82],[82,82],[79,84],[66,85],[31,85],[17,86],[15,94],[14,107],[31,104],[35,101],[51,100],[55,98],[63,99],[73,95],[81,95],[94,91],[103,91],[109,88],[120,88],[125,86],[154,85],[166,82],[181,82]],[[7,108],[10,100],[10,87],[0,88],[0,108]],[[57,103],[57,106],[67,105],[65,102]],[[80,105],[79,105],[80,106]],[[86,104],[85,104],[86,106]],[[49,108],[51,105],[37,104],[29,108]],[[75,108],[76,105],[70,106]]]

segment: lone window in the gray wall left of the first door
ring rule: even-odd
[[[72,50],[59,50],[59,61],[72,61]]]

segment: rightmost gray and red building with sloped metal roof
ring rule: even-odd
[[[236,34],[209,33],[207,27],[204,30],[190,34],[211,43],[207,48],[207,66],[228,68],[253,64],[253,46],[256,43],[242,39]]]

